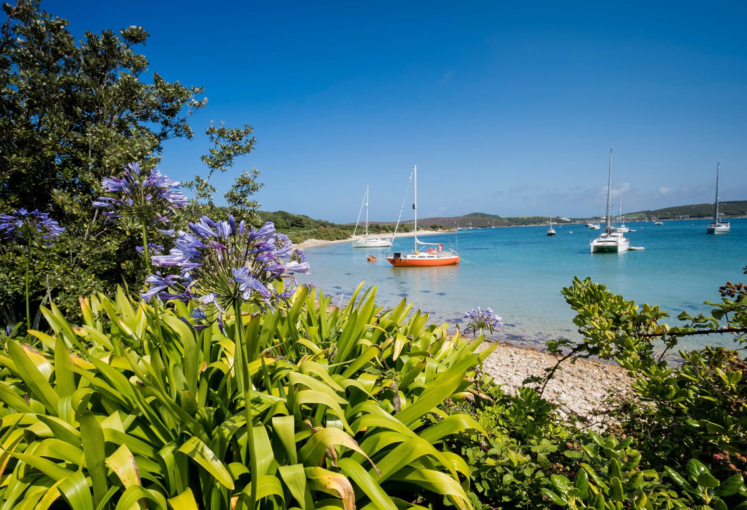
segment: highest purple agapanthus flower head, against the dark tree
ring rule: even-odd
[[[140,172],[137,162],[128,164],[122,177],[102,181],[104,190],[112,196],[100,196],[93,207],[105,208],[106,220],[132,216],[168,223],[175,209],[187,205],[187,197],[179,191],[179,181],[173,181],[155,168],[149,175]]]

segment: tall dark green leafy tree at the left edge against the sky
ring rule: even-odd
[[[71,308],[78,295],[137,281],[143,262],[126,223],[104,223],[91,201],[103,177],[131,161],[158,163],[165,140],[192,137],[187,118],[202,88],[146,79],[137,53],[149,34],[87,31],[33,0],[4,4],[0,28],[0,211],[49,212],[67,231],[35,257],[31,290]],[[125,232],[123,232],[125,231]],[[0,246],[0,307],[12,322],[22,303],[22,253]]]

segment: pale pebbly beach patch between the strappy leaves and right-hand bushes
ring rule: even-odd
[[[544,376],[545,367],[552,367],[555,357],[547,352],[524,349],[501,343],[483,364],[486,373],[513,394],[529,376]],[[560,414],[577,414],[588,418],[589,424],[600,429],[609,419],[604,400],[610,395],[622,396],[630,391],[633,379],[618,364],[579,359],[575,364],[564,361],[561,369],[545,388],[543,397],[556,403]]]

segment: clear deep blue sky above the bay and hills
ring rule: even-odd
[[[743,3],[44,1],[70,29],[142,25],[150,68],[205,87],[173,178],[203,172],[210,120],[255,128],[262,208],[588,216],[610,146],[625,211],[747,199]],[[220,193],[235,175],[215,179]],[[412,202],[412,196],[408,199]],[[406,216],[411,211],[406,211]]]

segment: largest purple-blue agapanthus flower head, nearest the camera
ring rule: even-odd
[[[291,259],[290,240],[277,234],[273,223],[259,229],[245,228],[244,222],[202,217],[189,224],[190,231],[179,231],[169,255],[155,255],[156,267],[176,267],[179,276],[147,279],[149,289],[141,296],[148,300],[180,299],[194,302],[205,317],[223,323],[223,313],[241,297],[264,309],[273,309],[290,299],[297,283],[294,273],[309,273],[309,263]],[[283,282],[276,290],[275,282]],[[198,317],[192,317],[198,320]]]

